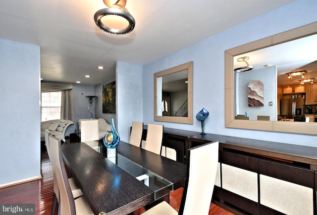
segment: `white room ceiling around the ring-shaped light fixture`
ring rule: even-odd
[[[129,0],[136,26],[117,36],[94,23],[103,0],[1,0],[0,38],[40,45],[44,80],[97,85],[116,61],[151,63],[291,1]]]

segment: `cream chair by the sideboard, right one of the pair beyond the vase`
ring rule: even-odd
[[[148,124],[146,141],[142,140],[141,147],[153,153],[160,154],[163,140],[163,125]]]

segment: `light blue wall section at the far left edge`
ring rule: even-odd
[[[41,176],[40,46],[0,39],[0,186]]]

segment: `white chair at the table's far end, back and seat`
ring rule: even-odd
[[[85,120],[80,123],[80,142],[85,142],[87,145],[100,152],[99,143],[99,121]]]

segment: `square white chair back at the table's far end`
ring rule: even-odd
[[[85,120],[80,124],[80,142],[99,140],[98,120]]]

